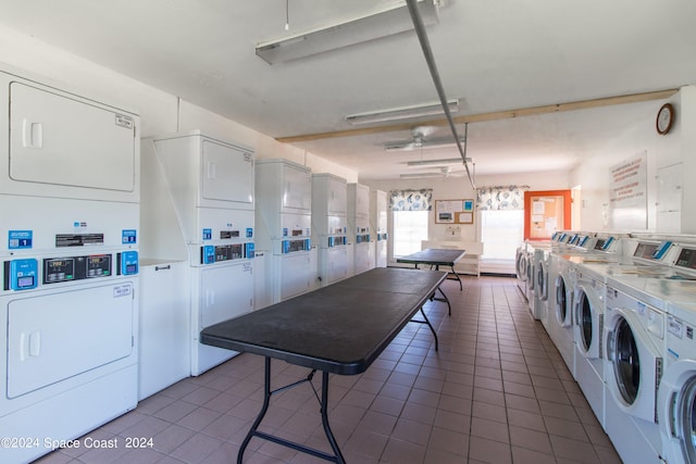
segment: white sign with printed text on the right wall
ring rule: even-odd
[[[635,158],[611,167],[611,228],[647,228],[647,151],[643,151]]]

